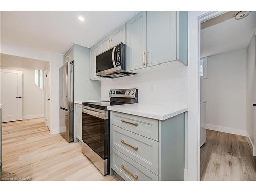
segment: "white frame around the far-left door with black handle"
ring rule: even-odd
[[[19,96],[22,97],[21,99],[19,99],[19,103],[18,103],[19,107],[21,108],[21,111],[18,115],[21,116],[21,118],[14,120],[14,121],[23,120],[23,73],[22,73],[22,71],[18,71],[18,70],[10,70],[10,69],[1,69],[0,68],[0,75],[1,75],[1,72],[17,73],[18,74],[18,79],[20,79],[18,81],[18,87],[20,87],[21,89],[18,89],[17,97],[19,97]],[[5,104],[5,103],[3,103],[3,104]],[[6,107],[6,106],[4,105],[4,107]],[[2,115],[2,119],[3,119],[3,115]],[[11,121],[6,121],[6,122],[11,122]]]

